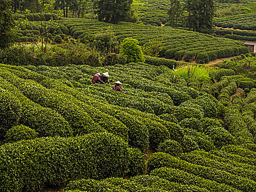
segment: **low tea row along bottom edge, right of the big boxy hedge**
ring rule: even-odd
[[[207,192],[207,189],[199,188],[196,185],[184,185],[176,182],[170,182],[157,176],[136,176],[131,179],[107,178],[103,180],[80,179],[70,182],[66,191],[193,191]]]

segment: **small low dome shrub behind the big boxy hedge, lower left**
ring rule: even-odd
[[[10,128],[5,135],[5,143],[18,142],[19,140],[35,139],[37,133],[34,129],[31,129],[24,125],[18,125]]]

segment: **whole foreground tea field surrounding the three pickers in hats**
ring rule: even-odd
[[[197,67],[0,64],[0,191],[256,191],[255,54]]]

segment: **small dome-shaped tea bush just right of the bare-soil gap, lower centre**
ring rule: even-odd
[[[158,146],[158,151],[170,154],[172,156],[180,156],[183,153],[182,146],[175,140],[165,140]]]

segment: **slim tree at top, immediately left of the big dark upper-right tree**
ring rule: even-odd
[[[176,27],[177,21],[183,12],[183,6],[179,0],[170,0],[170,9],[168,10],[169,20],[171,26]]]

